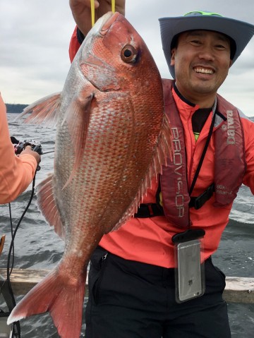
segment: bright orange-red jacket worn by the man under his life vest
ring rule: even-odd
[[[77,39],[75,32],[70,44],[70,56],[77,52]],[[200,136],[195,142],[191,117],[199,108],[197,105],[188,104],[172,90],[176,106],[179,109],[181,122],[183,123],[184,140],[186,144],[188,182],[193,181],[195,170],[200,161],[200,156],[205,145],[205,140],[212,122],[212,112],[208,116],[202,128]],[[244,142],[246,150],[246,173],[243,183],[249,186],[254,193],[254,123],[241,117]],[[193,196],[203,193],[207,186],[214,182],[214,133],[210,140],[200,174],[195,183]],[[157,182],[152,182],[152,188],[148,189],[143,203],[156,203]],[[208,200],[199,210],[191,208],[190,217],[193,227],[205,229],[205,237],[202,240],[204,253],[202,259],[208,258],[219,246],[222,232],[229,222],[231,205],[214,207],[214,196]],[[181,232],[175,224],[167,221],[166,217],[133,218],[124,224],[119,230],[104,235],[99,245],[107,251],[128,260],[136,260],[147,264],[162,267],[174,267],[174,246],[171,237]]]

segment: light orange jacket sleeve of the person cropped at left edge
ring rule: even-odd
[[[32,155],[17,157],[8,132],[6,106],[0,95],[0,204],[15,200],[28,188],[35,170],[36,159]]]

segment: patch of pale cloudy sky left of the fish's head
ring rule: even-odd
[[[0,23],[0,90],[5,102],[26,104],[60,91],[70,67],[68,43],[75,27],[68,1],[2,0],[0,11],[6,14]]]

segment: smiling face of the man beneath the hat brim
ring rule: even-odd
[[[181,94],[193,103],[214,97],[231,66],[229,39],[210,30],[183,32],[171,52]]]

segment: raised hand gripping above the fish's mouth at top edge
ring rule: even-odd
[[[75,23],[83,35],[92,28],[91,0],[69,0]],[[95,21],[111,11],[111,0],[95,0]],[[116,12],[125,13],[125,0],[116,0]]]

